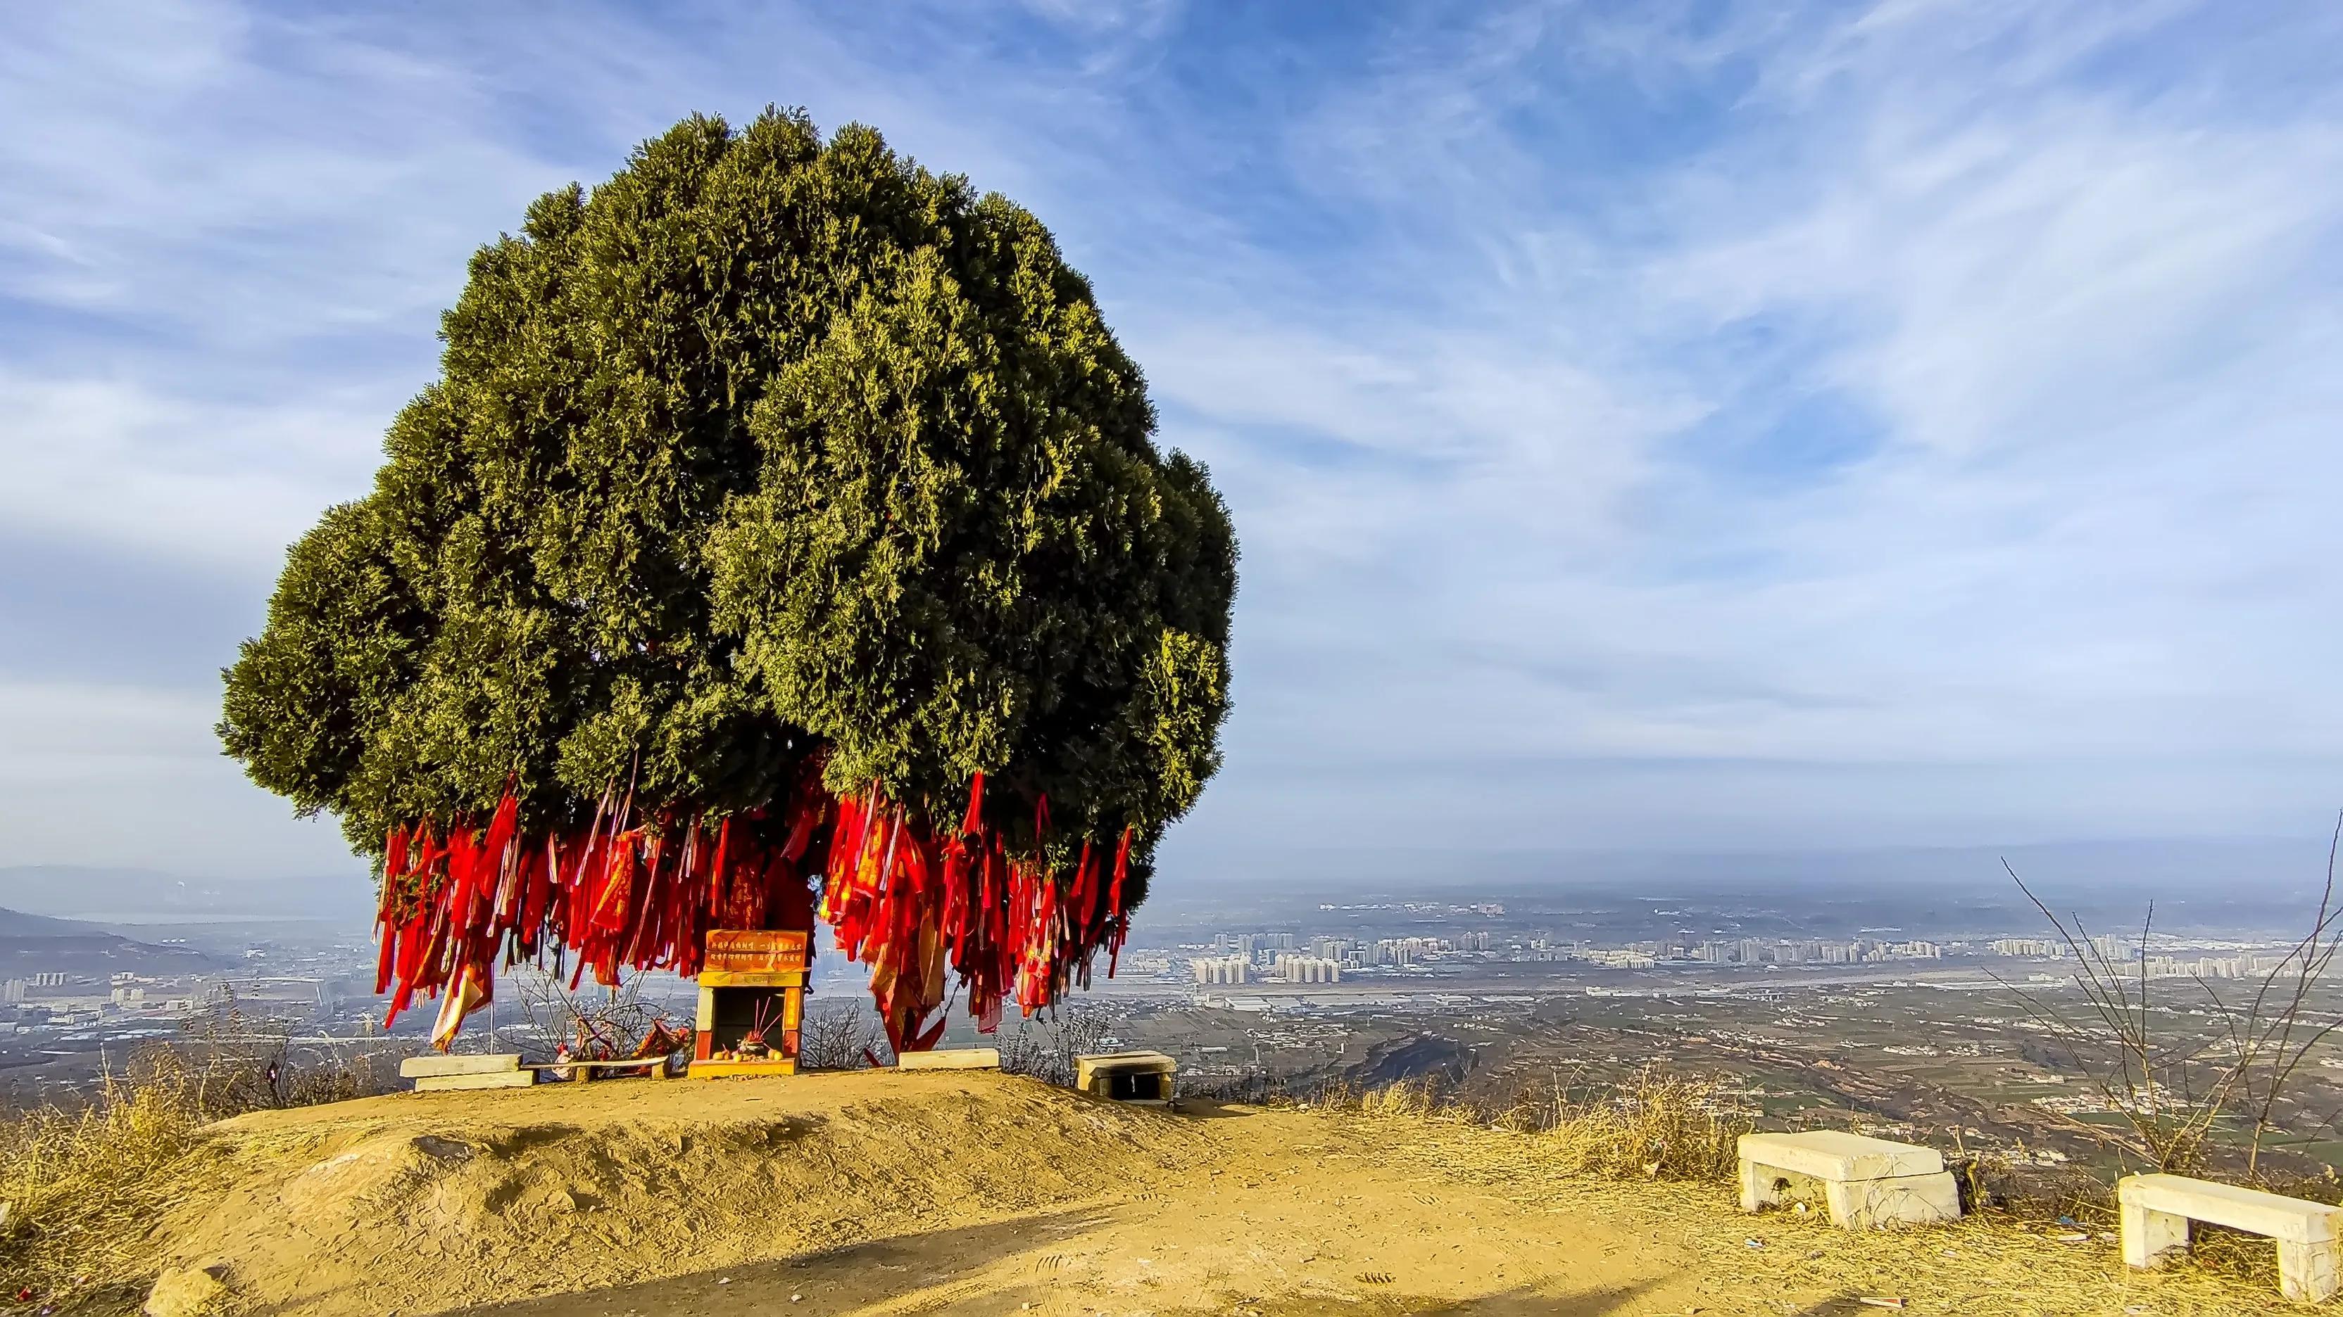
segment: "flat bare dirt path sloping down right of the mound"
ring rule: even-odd
[[[1542,1312],[1701,1308],[1694,1258],[1385,1165],[1307,1113],[1216,1111],[1211,1155],[1085,1202],[492,1312]],[[1715,1310],[1715,1308],[1706,1308]]]

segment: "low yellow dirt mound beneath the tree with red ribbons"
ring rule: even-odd
[[[227,1120],[166,1261],[241,1308],[429,1312],[860,1244],[1176,1174],[1153,1113],[998,1076],[551,1085]]]

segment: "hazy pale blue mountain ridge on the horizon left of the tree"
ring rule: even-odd
[[[328,919],[366,923],[375,893],[358,874],[314,879],[204,879],[82,865],[0,867],[0,907],[91,923],[183,919]]]

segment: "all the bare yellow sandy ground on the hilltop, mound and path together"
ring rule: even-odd
[[[220,1125],[159,1247],[302,1317],[2254,1310],[1982,1223],[1849,1251],[1715,1186],[1553,1183],[1521,1139],[993,1073],[401,1094]],[[2045,1265],[2106,1282],[2010,1294]]]

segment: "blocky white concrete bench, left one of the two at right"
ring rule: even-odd
[[[1741,1137],[1741,1212],[1774,1207],[1821,1183],[1830,1219],[1849,1230],[1928,1226],[1961,1216],[1961,1186],[1935,1148],[1839,1130]]]

